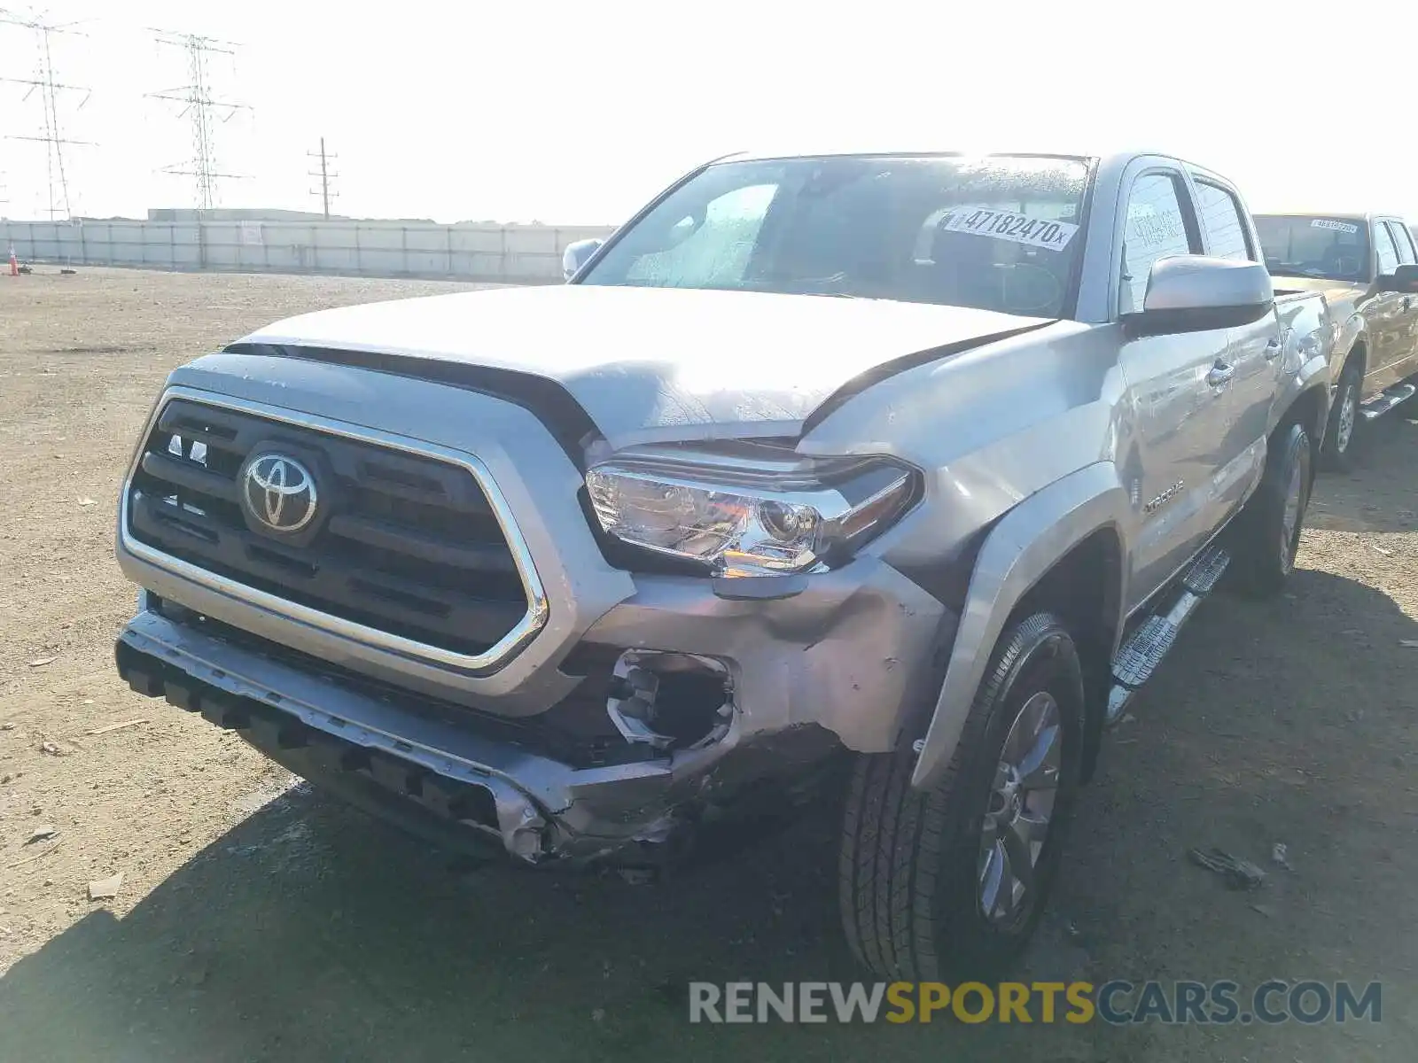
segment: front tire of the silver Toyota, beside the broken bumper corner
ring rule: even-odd
[[[1052,765],[1056,787],[1051,808],[1045,808],[1046,785],[1014,789],[1005,798],[1011,781],[1001,778],[1004,760],[1018,758],[1028,748],[1028,731],[1041,712],[1045,720],[1054,720],[1052,747],[1028,777],[1048,782],[1044,768]],[[1062,621],[1037,612],[1001,638],[954,757],[936,787],[912,789],[916,757],[910,750],[856,758],[838,870],[848,944],[864,967],[889,979],[987,979],[1018,957],[1058,873],[1079,787],[1082,734],[1078,651]],[[1038,754],[1039,748],[1032,751]],[[1025,757],[1022,763],[1032,761]],[[1017,802],[1012,795],[1022,799]],[[995,846],[986,845],[984,831],[991,823],[998,831],[1010,816],[1037,822],[1042,812],[1042,843],[1037,852],[1034,842],[1028,843],[1035,857],[1032,886],[1011,910],[1004,901],[1015,900],[1012,879],[1008,893],[1001,884],[990,894],[987,882],[1001,866],[998,853],[1005,840],[1015,855],[1024,843],[1005,826],[998,832],[995,852]],[[986,914],[986,899],[991,896],[993,917]]]

